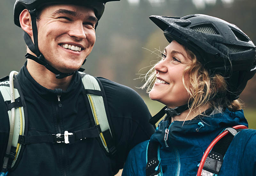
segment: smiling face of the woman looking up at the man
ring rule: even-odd
[[[175,108],[188,103],[189,94],[182,82],[182,74],[192,64],[187,52],[178,42],[173,40],[165,47],[162,60],[155,65],[156,82],[149,92],[149,97]],[[185,77],[185,84],[186,84]]]

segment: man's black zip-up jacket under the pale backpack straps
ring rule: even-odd
[[[28,109],[28,135],[64,134],[92,126],[83,98],[83,85],[76,72],[66,91],[50,90],[39,85],[28,73],[26,65],[17,75]],[[99,77],[107,96],[112,133],[117,153],[107,156],[96,138],[74,144],[27,144],[20,162],[9,176],[36,175],[114,175],[123,168],[128,152],[136,144],[149,139],[154,128],[148,123],[150,113],[141,97],[131,88]],[[61,107],[58,97],[60,95]],[[0,166],[7,146],[10,124],[0,95]]]

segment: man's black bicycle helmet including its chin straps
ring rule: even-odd
[[[31,22],[32,22],[32,30],[33,30],[33,37],[35,43],[32,42],[31,38],[26,32],[23,32],[23,38],[33,53],[36,54],[37,57],[27,53],[25,58],[35,60],[37,63],[44,65],[48,70],[56,74],[56,78],[64,78],[66,76],[70,76],[74,74],[72,73],[61,73],[57,69],[53,68],[49,63],[45,60],[42,53],[40,53],[38,49],[38,40],[37,40],[37,26],[36,26],[36,11],[43,7],[44,5],[49,4],[75,4],[75,5],[83,5],[89,6],[94,9],[95,16],[100,19],[105,8],[105,4],[110,1],[120,1],[120,0],[16,0],[14,4],[14,24],[20,27],[20,13],[24,9],[28,9]],[[85,60],[84,60],[85,62]]]

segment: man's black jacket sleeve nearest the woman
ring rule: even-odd
[[[137,92],[104,78],[99,80],[107,97],[116,142],[116,163],[117,168],[121,169],[129,151],[140,142],[148,140],[154,133],[154,127],[148,122],[151,115]]]

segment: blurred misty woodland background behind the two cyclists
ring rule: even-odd
[[[15,0],[0,1],[0,77],[11,70],[19,71],[25,62],[25,42],[22,30],[13,23]],[[183,17],[202,13],[234,23],[256,43],[255,0],[121,0],[109,2],[96,30],[96,43],[88,56],[85,72],[124,84],[137,91],[152,115],[164,105],[149,100],[140,90],[150,65],[158,60],[151,51],[168,45],[163,32],[149,20],[150,15]],[[146,48],[146,49],[144,49]],[[157,52],[156,52],[157,53]],[[136,79],[136,80],[134,80]],[[245,102],[249,128],[256,129],[256,76],[247,83],[240,96]],[[120,174],[120,173],[119,173]]]

